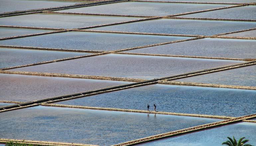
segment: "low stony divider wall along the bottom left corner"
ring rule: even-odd
[[[0,143],[25,143],[25,144],[33,144],[33,145],[42,145],[42,146],[97,146],[91,144],[76,144],[76,143],[62,143],[62,142],[49,142],[49,141],[35,141],[35,140],[18,140],[18,139],[5,139],[0,138]]]

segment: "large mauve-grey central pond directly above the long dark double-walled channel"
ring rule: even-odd
[[[242,61],[107,54],[12,70],[154,79],[239,62]]]

